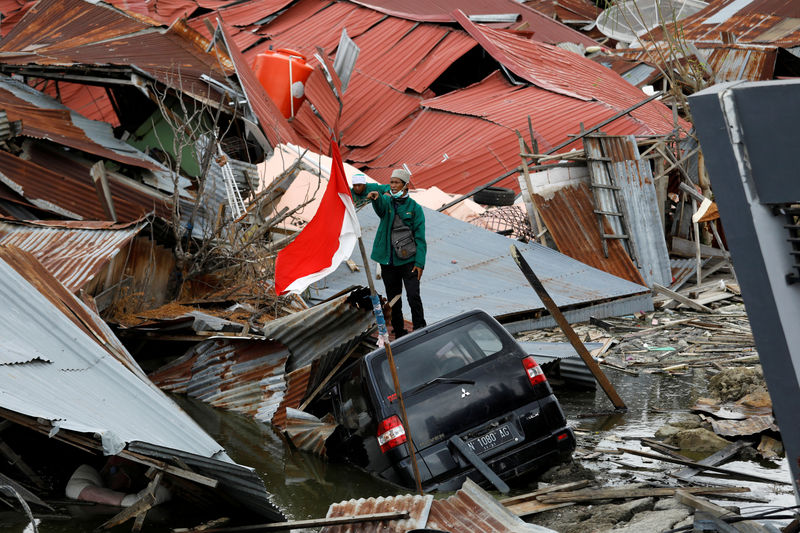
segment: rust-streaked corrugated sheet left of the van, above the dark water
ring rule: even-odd
[[[276,342],[212,339],[150,374],[162,390],[270,422],[286,390],[289,352]]]

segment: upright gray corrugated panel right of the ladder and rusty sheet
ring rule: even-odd
[[[613,163],[615,184],[620,188],[622,203],[631,239],[635,243],[639,272],[645,282],[652,286],[669,285],[672,273],[669,268],[669,252],[658,215],[656,188],[653,174],[647,161],[621,161]]]

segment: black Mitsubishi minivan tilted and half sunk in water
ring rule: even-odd
[[[539,365],[487,313],[415,331],[393,342],[392,354],[424,490],[457,490],[465,477],[490,486],[476,463],[520,481],[575,449]],[[339,423],[326,441],[329,458],[416,486],[384,349],[338,372],[308,410]]]

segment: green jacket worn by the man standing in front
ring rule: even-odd
[[[392,248],[391,236],[395,204],[398,207],[400,219],[411,228],[417,244],[417,253],[407,259],[398,258]],[[413,262],[414,266],[425,268],[425,254],[428,247],[425,243],[425,214],[422,212],[422,207],[408,196],[396,200],[391,196],[381,194],[377,200],[372,201],[372,208],[381,217],[381,223],[375,233],[375,241],[372,243],[372,259],[382,265],[388,265],[391,259],[393,265],[405,265]]]

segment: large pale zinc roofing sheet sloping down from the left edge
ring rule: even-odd
[[[45,291],[76,312],[91,313],[29,254],[0,249],[0,352],[13,346],[47,359],[0,365],[0,407],[50,421],[55,431],[98,435],[106,454],[144,441],[226,458],[172,400],[112,357]]]

